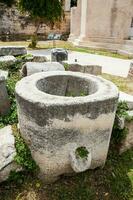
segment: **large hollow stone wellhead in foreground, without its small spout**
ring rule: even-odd
[[[75,146],[90,149],[89,168],[105,164],[118,101],[113,83],[78,72],[36,73],[17,83],[16,99],[21,134],[45,181],[73,172]]]

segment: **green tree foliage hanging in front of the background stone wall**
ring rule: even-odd
[[[54,24],[62,17],[60,0],[19,0],[19,8],[32,18],[46,24]]]

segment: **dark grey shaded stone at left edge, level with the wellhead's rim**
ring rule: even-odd
[[[0,77],[0,115],[5,115],[10,109],[10,102],[4,76]]]

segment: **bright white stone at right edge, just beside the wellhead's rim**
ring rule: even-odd
[[[119,101],[125,101],[129,110],[133,110],[133,96],[126,94],[125,92],[120,92]]]

